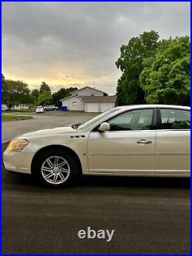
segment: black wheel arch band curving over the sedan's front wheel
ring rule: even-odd
[[[77,153],[74,152],[74,150],[66,147],[65,145],[48,145],[48,146],[45,146],[44,148],[40,148],[32,158],[31,174],[34,173],[35,161],[41,155],[41,153],[45,152],[45,151],[53,150],[53,149],[64,150],[65,152],[68,152],[68,154],[70,154],[72,157],[74,157],[75,161],[77,161],[77,164],[78,164],[78,172],[79,172],[79,174],[82,174],[82,165],[81,165],[80,158],[78,157]]]

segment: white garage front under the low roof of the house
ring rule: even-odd
[[[114,102],[85,102],[85,112],[104,112],[108,109],[114,108]]]

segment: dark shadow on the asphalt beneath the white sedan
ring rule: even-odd
[[[4,183],[41,187],[31,176],[6,171]],[[106,188],[190,188],[190,178],[166,177],[117,177],[117,176],[82,176],[75,187],[106,187]]]

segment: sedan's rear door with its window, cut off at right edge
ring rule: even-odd
[[[190,175],[190,111],[159,109],[157,175]]]

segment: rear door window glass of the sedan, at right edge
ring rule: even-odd
[[[162,108],[161,129],[190,129],[190,111]]]

